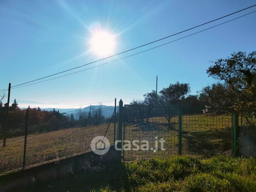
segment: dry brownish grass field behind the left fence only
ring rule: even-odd
[[[91,151],[91,140],[105,134],[108,124],[82,128],[68,128],[27,136],[26,166],[46,163],[63,157]],[[114,124],[106,134],[110,143],[114,140]],[[6,147],[0,140],[0,174],[20,169],[23,163],[24,136],[8,138]]]

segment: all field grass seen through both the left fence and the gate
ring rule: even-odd
[[[105,134],[107,124],[82,128],[68,128],[53,132],[29,134],[27,137],[26,166],[37,165],[59,158],[91,151],[90,143],[95,136]],[[153,147],[155,136],[166,142],[165,151],[125,151],[126,160],[178,155],[178,116],[171,118],[172,129],[164,116],[149,118],[148,124],[140,120],[126,122],[126,140],[148,140]],[[176,130],[175,130],[176,129]],[[182,154],[209,158],[231,151],[231,116],[190,114],[182,116]],[[113,143],[114,125],[111,124],[107,138]],[[0,140],[0,174],[20,169],[23,162],[24,136],[8,138],[6,147]],[[150,146],[150,147],[151,147]],[[160,146],[159,146],[160,148]]]

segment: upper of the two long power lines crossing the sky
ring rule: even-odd
[[[105,58],[102,58],[102,59],[99,59],[99,60],[96,60],[96,61],[93,61],[93,62],[89,62],[89,63],[87,63],[87,64],[84,64],[84,65],[81,65],[81,66],[78,66],[78,67],[70,68],[70,69],[64,70],[64,71],[62,71],[62,72],[58,72],[58,73],[55,73],[55,74],[52,74],[52,75],[49,75],[49,76],[45,76],[45,77],[43,77],[43,78],[38,78],[38,79],[36,79],[36,80],[27,81],[27,82],[25,82],[25,83],[21,83],[21,84],[18,84],[18,85],[14,85],[14,86],[12,86],[12,87],[17,87],[17,86],[19,86],[19,85],[24,85],[24,84],[27,84],[27,83],[31,83],[31,82],[33,82],[33,81],[38,81],[38,80],[41,80],[41,79],[45,79],[45,78],[48,78],[48,77],[51,77],[51,76],[55,76],[55,75],[58,75],[58,74],[61,74],[61,73],[64,73],[64,72],[68,72],[68,71],[70,71],[70,70],[74,70],[74,69],[77,69],[77,68],[81,68],[81,67],[86,66],[86,65],[89,65],[89,64],[93,64],[93,63],[95,63],[95,62],[99,62],[99,61],[102,61],[102,60],[106,60],[106,59],[108,59],[108,58],[111,58],[111,57],[114,57],[114,56],[123,54],[123,53],[125,53],[125,52],[129,52],[129,51],[131,51],[131,50],[135,50],[135,49],[137,49],[137,48],[144,47],[144,46],[146,46],[146,45],[150,45],[150,44],[155,43],[155,42],[157,42],[157,41],[161,41],[161,40],[163,40],[163,39],[167,39],[167,38],[169,38],[169,37],[173,37],[173,36],[178,35],[178,34],[180,34],[180,33],[184,33],[184,32],[186,32],[186,31],[195,29],[195,28],[200,27],[200,26],[202,26],[202,25],[206,25],[206,24],[211,23],[211,22],[213,22],[213,21],[217,21],[217,20],[219,20],[219,19],[223,19],[223,18],[228,17],[228,16],[231,16],[231,15],[233,15],[233,14],[237,14],[237,13],[239,13],[239,12],[242,12],[242,11],[244,11],[244,10],[247,10],[247,9],[249,9],[249,8],[252,8],[252,7],[254,7],[254,6],[256,6],[256,4],[253,5],[253,6],[244,8],[244,9],[242,9],[242,10],[239,10],[239,11],[237,11],[237,12],[233,12],[233,13],[231,13],[231,14],[228,14],[228,15],[225,15],[225,16],[222,16],[222,17],[219,17],[219,18],[217,18],[217,19],[213,19],[213,20],[208,21],[208,22],[206,22],[206,23],[202,23],[202,24],[197,25],[197,26],[195,26],[195,27],[191,27],[191,28],[186,29],[186,30],[184,30],[184,31],[180,31],[180,32],[178,32],[178,33],[169,35],[169,36],[167,36],[167,37],[163,37],[163,38],[161,38],[161,39],[157,39],[157,40],[155,40],[155,41],[151,41],[151,42],[146,43],[146,44],[144,44],[144,45],[140,45],[140,46],[138,46],[138,47],[131,48],[131,49],[129,49],[129,50],[126,50],[126,51],[123,51],[123,52],[120,52],[120,53],[117,53],[117,54],[114,54],[114,55],[111,55],[111,56],[108,56],[108,57],[105,57]]]

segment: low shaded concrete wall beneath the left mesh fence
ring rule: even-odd
[[[61,159],[37,167],[24,169],[16,173],[0,176],[0,192],[17,191],[19,187],[29,186],[33,183],[47,182],[57,177],[65,176],[68,172],[85,170],[91,164],[100,161],[116,161],[117,151],[111,146],[105,155],[96,155],[88,152],[82,155]]]

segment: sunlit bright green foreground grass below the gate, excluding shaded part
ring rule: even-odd
[[[127,164],[134,191],[252,191],[256,160],[217,156],[146,159]]]

